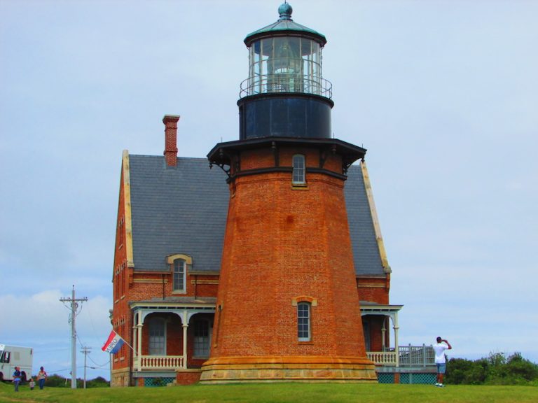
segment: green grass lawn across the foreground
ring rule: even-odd
[[[357,383],[256,383],[249,385],[176,386],[163,388],[47,388],[15,393],[11,384],[0,384],[0,402],[57,403],[536,403],[535,386],[446,386]]]

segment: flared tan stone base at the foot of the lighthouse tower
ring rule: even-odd
[[[377,381],[366,358],[310,355],[212,358],[200,376],[200,383]]]

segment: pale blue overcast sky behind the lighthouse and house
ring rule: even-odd
[[[239,138],[242,42],[280,0],[0,0],[0,344],[109,379],[121,155]],[[538,1],[290,1],[324,34],[332,129],[368,149],[400,344],[538,362]],[[392,334],[391,334],[392,335]],[[77,376],[83,376],[78,353]]]

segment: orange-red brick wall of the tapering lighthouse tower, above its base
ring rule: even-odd
[[[296,153],[319,167],[318,150],[279,153],[281,167],[291,167]],[[242,170],[275,166],[268,150],[240,157]],[[341,174],[340,157],[326,155],[324,168]],[[307,184],[293,188],[287,172],[236,178],[212,357],[365,354],[343,180],[307,173]],[[317,299],[310,342],[297,339],[292,299],[301,295]]]

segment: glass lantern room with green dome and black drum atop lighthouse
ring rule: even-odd
[[[326,38],[294,22],[292,11],[282,4],[277,22],[244,39],[249,76],[237,101],[241,140],[331,137],[332,85],[322,77]]]

